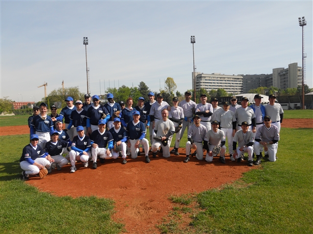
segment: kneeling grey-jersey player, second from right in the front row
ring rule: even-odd
[[[248,122],[241,123],[241,130],[235,133],[233,138],[233,156],[237,159],[237,162],[242,161],[244,153],[248,153],[248,166],[252,167],[252,155],[253,155],[253,133],[249,130]],[[237,147],[238,142],[238,147]]]

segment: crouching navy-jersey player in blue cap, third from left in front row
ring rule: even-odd
[[[78,126],[76,128],[76,131],[78,132],[78,135],[73,138],[72,144],[71,144],[71,151],[68,153],[71,168],[70,173],[76,172],[76,160],[81,160],[83,162],[84,167],[88,167],[88,160],[90,158],[90,147],[91,142],[90,138],[85,135],[84,127]]]

